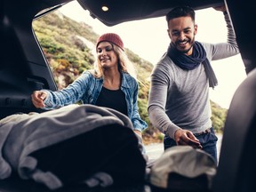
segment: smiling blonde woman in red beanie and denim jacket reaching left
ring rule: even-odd
[[[141,136],[148,125],[138,112],[138,83],[128,73],[131,66],[122,39],[114,33],[104,34],[97,41],[96,52],[93,70],[84,71],[63,90],[33,92],[33,104],[36,108],[52,109],[82,100],[84,104],[114,108],[131,119],[134,132]]]

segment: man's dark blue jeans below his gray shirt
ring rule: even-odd
[[[217,157],[217,136],[215,135],[215,132],[211,128],[211,132],[201,134],[196,136],[197,140],[200,141],[202,145],[202,149],[210,154],[213,159],[215,160],[215,163],[218,164],[218,157]],[[176,146],[176,141],[172,140],[169,136],[164,136],[164,150],[167,148],[171,148],[173,146]]]

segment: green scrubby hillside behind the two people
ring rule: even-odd
[[[60,12],[51,12],[34,20],[33,28],[59,89],[71,84],[84,70],[92,68],[95,43],[99,35],[91,26],[71,20]],[[148,123],[143,136],[162,140],[162,134],[148,120],[149,76],[153,64],[132,50],[125,49],[125,52],[137,70],[140,116]],[[226,114],[227,109],[212,102],[212,122],[216,131],[221,132]]]

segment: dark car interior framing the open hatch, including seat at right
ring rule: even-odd
[[[57,90],[52,72],[47,66],[31,23],[35,18],[58,9],[71,0],[2,0],[0,3],[0,118],[17,112],[42,112],[36,109],[30,99],[33,91],[42,88]],[[107,26],[114,26],[130,20],[145,20],[164,16],[172,7],[188,4],[196,10],[227,4],[228,14],[236,32],[248,78],[237,89],[228,110],[227,124],[220,153],[220,164],[212,191],[253,191],[255,175],[255,119],[256,119],[256,66],[255,11],[248,0],[77,0]],[[102,12],[101,6],[108,5],[109,12]],[[42,12],[43,11],[43,12]],[[232,69],[230,69],[232,71]],[[244,116],[245,115],[245,116]],[[254,130],[253,130],[254,128]],[[254,178],[254,179],[253,179]],[[15,184],[16,183],[16,184]],[[16,186],[15,186],[16,185]],[[29,187],[30,186],[30,187]],[[145,188],[144,188],[145,189]],[[144,190],[143,189],[143,190]],[[138,189],[137,191],[143,191]],[[17,180],[0,181],[0,191],[44,191],[33,183],[18,183]],[[46,191],[46,190],[45,190]],[[71,190],[72,191],[72,190]],[[127,191],[129,191],[127,189]],[[132,191],[132,190],[131,190]],[[168,191],[168,190],[166,190]]]

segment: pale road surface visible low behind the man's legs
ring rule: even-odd
[[[218,137],[217,141],[217,152],[218,156],[220,156],[220,146],[222,141],[222,135],[216,134]],[[157,159],[164,153],[164,145],[163,143],[152,143],[147,146],[145,146],[146,152],[148,154],[149,159]]]

